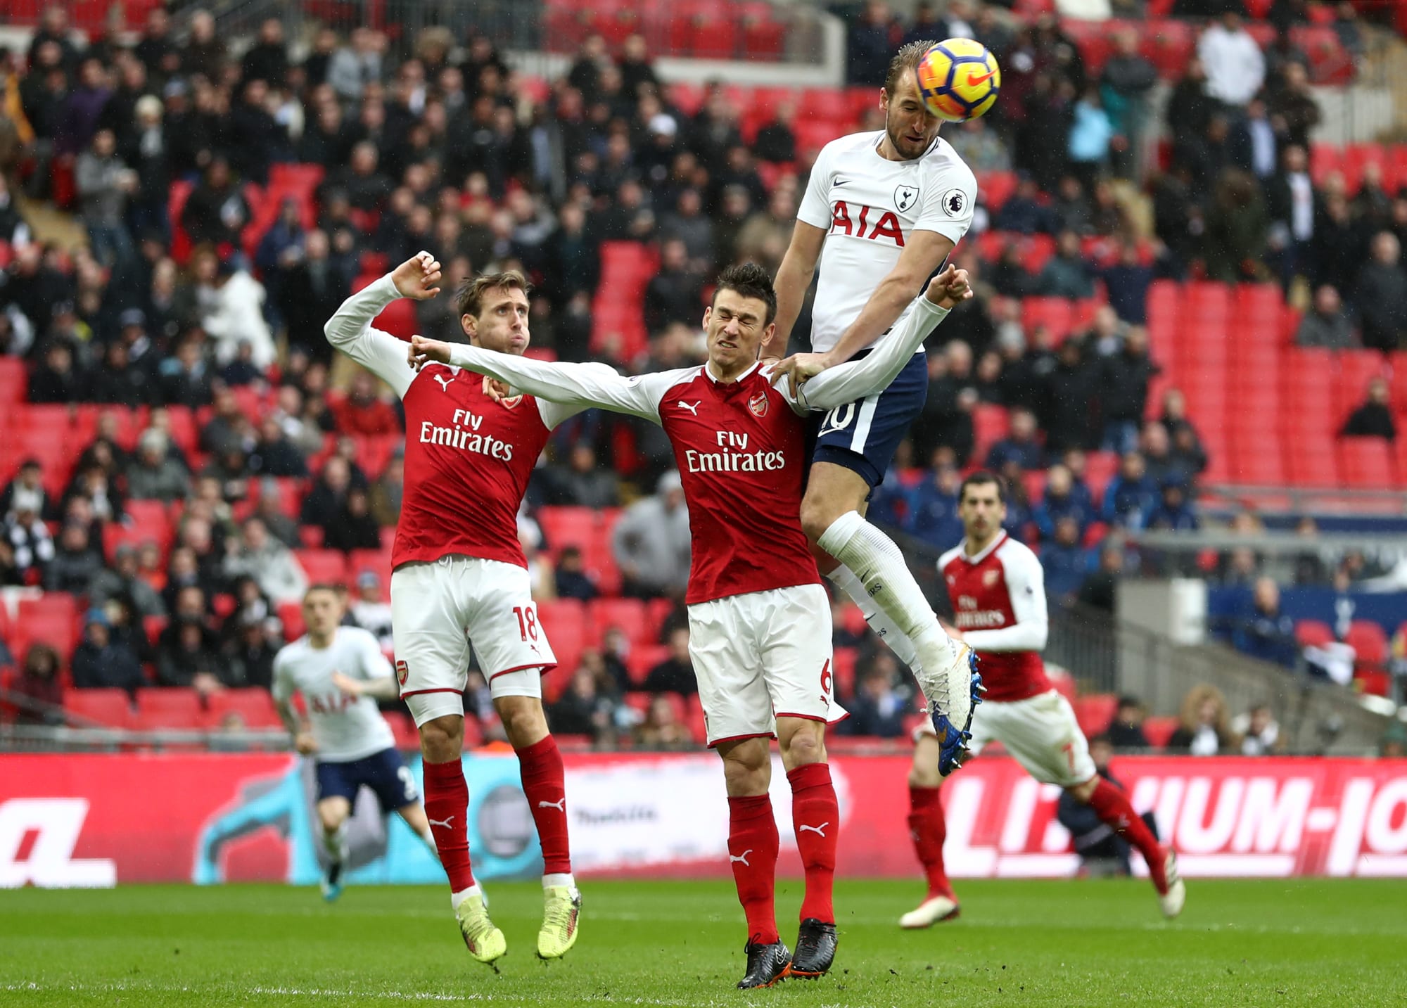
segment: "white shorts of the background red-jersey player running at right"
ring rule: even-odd
[[[915,729],[934,735],[933,722]],[[1000,742],[1026,773],[1043,784],[1076,787],[1093,779],[1095,760],[1089,743],[1075,719],[1075,708],[1058,690],[1047,690],[1026,700],[986,700],[972,712],[972,755],[988,742]]]

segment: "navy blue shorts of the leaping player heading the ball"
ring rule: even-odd
[[[864,358],[861,351],[851,360]],[[923,412],[929,397],[929,355],[915,353],[889,387],[855,403],[837,405],[820,421],[812,462],[851,469],[875,489],[884,483],[899,442]]]

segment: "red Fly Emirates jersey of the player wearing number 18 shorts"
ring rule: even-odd
[[[450,553],[528,566],[518,508],[552,428],[581,405],[530,396],[494,403],[484,377],[407,363],[408,346],[371,320],[398,297],[391,277],[349,297],[328,321],[328,341],[391,386],[405,405],[405,490],[391,566]]]

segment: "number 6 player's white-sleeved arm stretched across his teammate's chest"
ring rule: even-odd
[[[425,336],[411,338],[408,360],[415,370],[432,362],[464,367],[507,382],[515,393],[536,396],[547,403],[599,407],[656,422],[660,420],[658,394],[651,394],[656,384],[650,382],[653,376],[628,379],[601,363],[549,363]]]

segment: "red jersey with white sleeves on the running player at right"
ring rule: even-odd
[[[964,546],[938,560],[953,622],[976,649],[989,701],[1051,688],[1040,650],[1047,634],[1045,576],[1036,553],[1002,532],[976,556]]]

